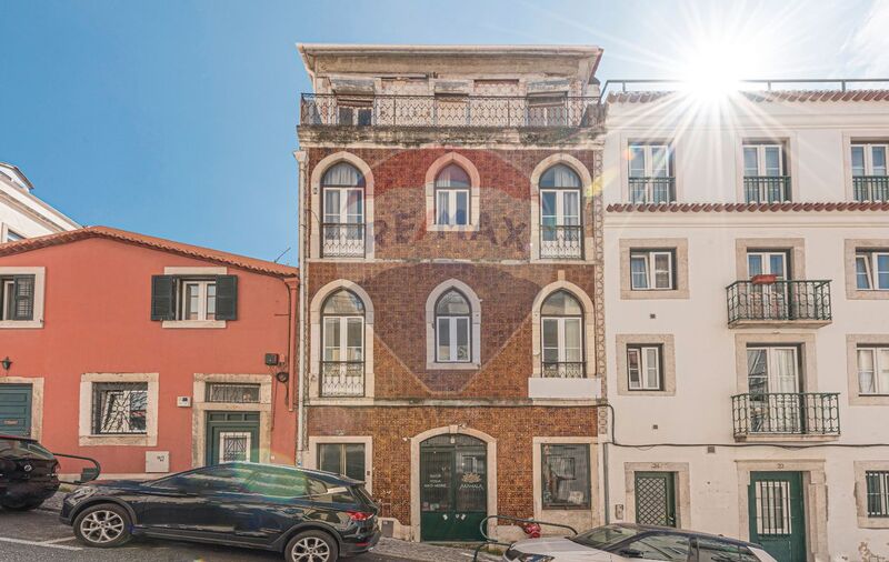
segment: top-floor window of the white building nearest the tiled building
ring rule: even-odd
[[[631,203],[676,201],[672,151],[663,143],[631,142],[629,187]]]

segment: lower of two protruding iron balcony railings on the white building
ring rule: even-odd
[[[839,435],[836,392],[772,392],[731,397],[735,436],[761,434]]]

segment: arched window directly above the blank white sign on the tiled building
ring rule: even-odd
[[[543,377],[585,377],[583,307],[568,291],[556,291],[540,308]]]

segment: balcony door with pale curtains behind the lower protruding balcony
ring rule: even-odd
[[[799,348],[748,348],[747,383],[750,389],[751,432],[801,431]]]

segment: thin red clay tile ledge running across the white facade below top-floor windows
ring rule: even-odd
[[[608,212],[889,211],[889,201],[788,203],[612,203]]]

